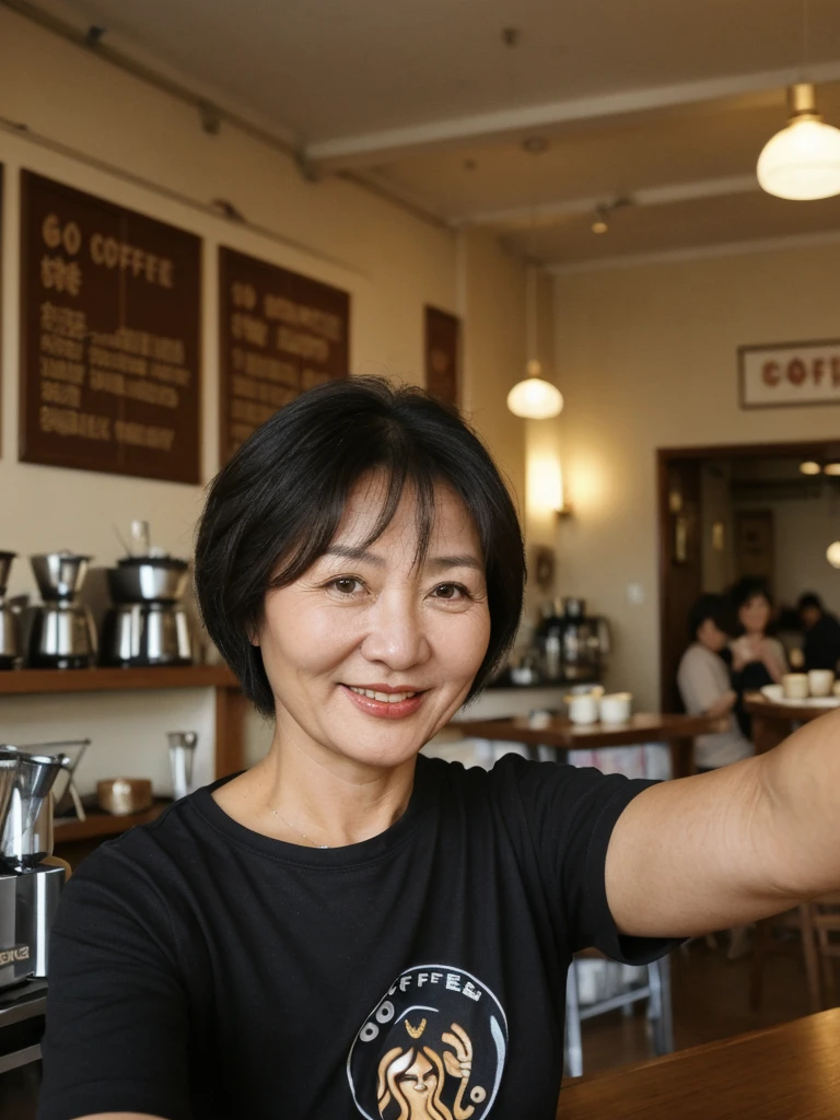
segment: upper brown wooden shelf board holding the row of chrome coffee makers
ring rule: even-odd
[[[0,672],[0,696],[47,692],[120,692],[142,689],[235,689],[226,665],[150,669],[19,669]]]

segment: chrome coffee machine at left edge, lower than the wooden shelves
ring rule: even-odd
[[[0,746],[0,991],[47,974],[65,868],[53,853],[53,783],[66,755]]]

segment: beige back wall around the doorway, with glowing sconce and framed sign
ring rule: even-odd
[[[839,269],[825,244],[556,280],[556,428],[576,508],[557,535],[559,586],[610,617],[610,683],[643,706],[659,702],[655,450],[837,438],[836,408],[741,411],[736,349],[840,335]]]

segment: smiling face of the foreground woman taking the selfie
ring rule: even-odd
[[[327,762],[377,767],[413,757],[464,702],[489,641],[478,536],[460,498],[436,492],[422,566],[407,487],[391,524],[362,548],[382,479],[351,494],[327,554],[269,591],[254,637],[274,693],[279,741]]]

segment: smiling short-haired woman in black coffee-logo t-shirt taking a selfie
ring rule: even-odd
[[[69,881],[40,1120],[549,1120],[572,952],[650,961],[840,886],[833,717],[659,785],[419,756],[523,577],[489,456],[419,391],[321,386],[241,448],[196,585],[274,739]]]

